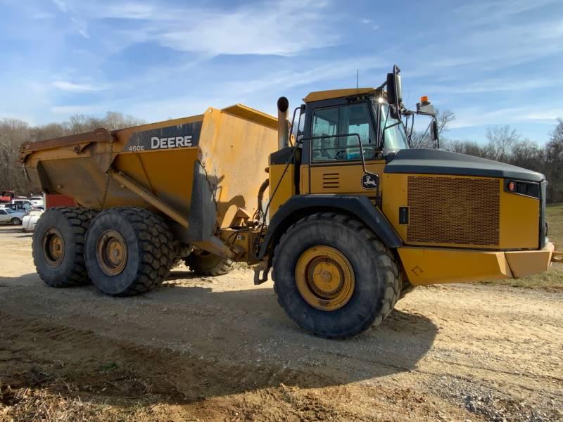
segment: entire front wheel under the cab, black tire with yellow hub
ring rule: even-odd
[[[279,305],[324,338],[348,338],[381,324],[400,295],[391,251],[364,224],[333,212],[293,224],[274,250],[272,267]]]

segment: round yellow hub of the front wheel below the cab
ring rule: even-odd
[[[296,283],[305,302],[323,311],[346,305],[355,287],[350,261],[330,246],[315,246],[303,252],[296,265]]]

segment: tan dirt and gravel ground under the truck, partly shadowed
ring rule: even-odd
[[[0,227],[0,421],[560,421],[563,290],[417,288],[322,340],[251,271],[110,298],[48,288]]]

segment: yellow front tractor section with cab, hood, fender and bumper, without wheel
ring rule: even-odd
[[[429,110],[422,100],[417,110]],[[303,101],[295,145],[270,155],[272,221],[262,257],[279,241],[277,224],[284,232],[315,210],[377,220],[372,229],[414,286],[522,277],[555,257],[543,174],[410,148],[401,116],[415,112],[381,87],[312,92]],[[344,209],[346,201],[356,205]]]

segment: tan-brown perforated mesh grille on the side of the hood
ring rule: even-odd
[[[411,176],[407,241],[498,245],[499,200],[498,180]]]

